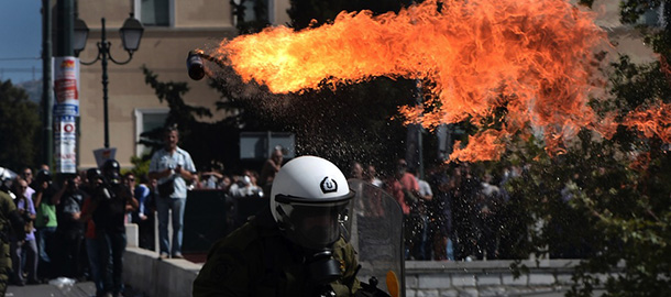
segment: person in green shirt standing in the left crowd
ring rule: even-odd
[[[56,204],[54,196],[58,188],[52,183],[52,174],[47,169],[41,169],[35,176],[35,229],[37,230],[38,264],[37,275],[40,278],[54,278],[52,256],[55,252],[54,239],[58,222],[56,220]]]

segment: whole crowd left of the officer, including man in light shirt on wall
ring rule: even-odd
[[[24,286],[57,277],[90,279],[97,296],[120,296],[127,223],[138,224],[140,248],[157,250],[161,260],[183,258],[188,190],[263,197],[255,170],[229,177],[213,166],[198,173],[188,152],[177,146],[177,129],[169,127],[164,136],[165,145],[152,156],[147,175],[121,175],[119,162],[108,160],[99,168],[79,174],[52,176],[48,166],[42,165],[35,175],[26,167],[15,178],[2,180],[2,191],[12,198],[24,224],[22,232],[9,233],[9,283]],[[264,178],[272,176],[273,170]]]

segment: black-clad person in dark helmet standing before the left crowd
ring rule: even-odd
[[[99,177],[97,188],[94,189],[91,197],[90,209],[81,221],[87,221],[89,216],[96,224],[96,237],[98,242],[102,242],[101,246],[106,246],[100,251],[100,256],[103,258],[99,262],[99,272],[101,279],[110,284],[106,284],[105,290],[111,293],[112,296],[123,294],[123,252],[125,251],[125,211],[127,207],[138,209],[138,200],[133,198],[131,190],[121,183],[120,165],[116,160],[108,160],[102,165],[102,176]],[[111,258],[111,268],[109,267]],[[111,273],[111,275],[110,275]]]

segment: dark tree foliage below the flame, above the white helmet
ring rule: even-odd
[[[384,165],[394,164],[405,152],[406,128],[400,120],[392,118],[397,114],[398,105],[415,101],[416,87],[410,80],[378,78],[338,86],[338,90],[324,87],[288,96],[267,91],[248,96],[238,85],[230,84],[230,79],[211,80],[210,85],[221,92],[218,110],[231,116],[205,123],[195,114],[207,117],[210,111],[184,102],[188,91],[186,82],[160,81],[151,70],[144,72],[147,85],[170,108],[166,124],[178,124],[180,146],[191,154],[197,167],[212,162],[222,162],[233,172],[255,166],[238,160],[241,131],[293,132],[297,154],[324,156],[343,168],[358,160],[391,170]],[[154,148],[162,145],[158,130],[141,136],[143,144]]]

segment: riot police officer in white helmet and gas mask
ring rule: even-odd
[[[270,207],[210,250],[194,296],[354,295],[359,265],[340,229],[352,197],[331,162],[288,162],[275,177]]]

